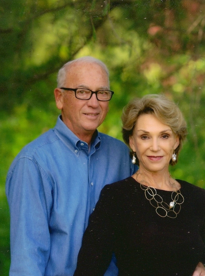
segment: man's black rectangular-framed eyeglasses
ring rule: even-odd
[[[97,90],[97,91],[92,91],[86,88],[60,87],[60,89],[74,91],[76,98],[80,100],[89,100],[92,97],[92,94],[95,94],[98,101],[110,101],[114,94],[114,92],[111,90],[103,90],[103,89]]]

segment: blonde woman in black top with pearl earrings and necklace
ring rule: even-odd
[[[160,95],[135,99],[122,120],[139,170],[102,189],[74,276],[103,275],[113,253],[119,276],[190,276],[205,263],[205,190],[168,170],[178,161],[186,122]]]

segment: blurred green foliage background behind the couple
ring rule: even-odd
[[[53,90],[60,67],[84,55],[110,70],[115,91],[99,130],[121,139],[130,99],[163,93],[188,123],[172,175],[205,188],[204,0],[1,0],[0,275],[9,269],[5,178],[21,148],[59,114]]]

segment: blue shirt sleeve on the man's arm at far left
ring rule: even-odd
[[[11,229],[10,276],[42,276],[50,254],[51,185],[44,170],[20,158],[7,176]]]

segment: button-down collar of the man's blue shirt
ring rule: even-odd
[[[75,154],[79,154],[80,149],[88,150],[88,144],[80,140],[61,120],[61,115],[58,116],[57,123],[54,127],[54,132],[60,138],[60,140],[70,148]],[[95,150],[98,150],[100,147],[100,133],[96,130],[92,136],[90,148],[94,147]],[[78,151],[78,152],[76,152]]]

